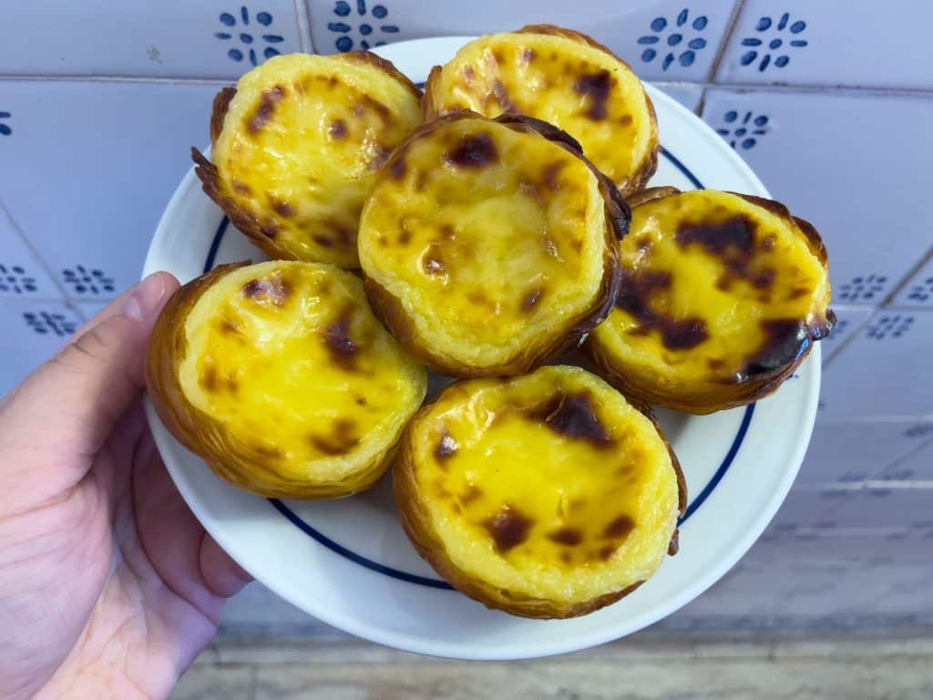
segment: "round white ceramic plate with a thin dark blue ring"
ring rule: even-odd
[[[421,39],[378,52],[425,80],[466,37]],[[748,166],[703,121],[650,87],[661,153],[654,185],[767,196]],[[206,119],[206,116],[205,116]],[[205,122],[206,123],[206,122]],[[216,263],[261,259],[189,172],[165,210],[145,273],[187,282]],[[683,465],[689,508],[680,552],[632,595],[582,618],[537,621],[483,608],[450,589],[398,525],[389,475],[368,493],[330,502],[270,501],[218,480],[147,406],[160,453],[207,530],[258,581],[314,617],[399,649],[467,659],[576,651],[660,620],[717,581],[758,538],[800,467],[813,427],[819,345],[770,399],[697,417],[660,412]]]

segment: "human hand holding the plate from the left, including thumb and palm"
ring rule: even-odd
[[[0,700],[166,697],[249,581],[146,427],[146,343],[177,287],[147,277],[0,402]]]

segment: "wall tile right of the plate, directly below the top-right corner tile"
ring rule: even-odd
[[[703,119],[820,231],[836,303],[880,303],[926,255],[933,99],[708,90]]]

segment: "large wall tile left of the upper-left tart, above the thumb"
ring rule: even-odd
[[[216,86],[0,81],[0,192],[75,301],[139,279],[162,209],[208,141]]]

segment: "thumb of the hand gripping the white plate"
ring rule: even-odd
[[[169,273],[149,275],[91,319],[7,398],[0,435],[33,454],[82,457],[76,464],[90,467],[144,385],[149,334],[177,287]]]

